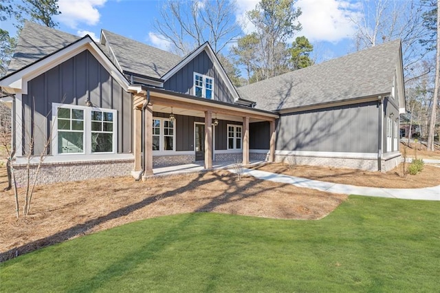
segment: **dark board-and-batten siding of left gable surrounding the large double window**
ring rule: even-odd
[[[88,50],[28,82],[28,94],[23,95],[23,148],[29,136],[25,133],[32,133],[34,119],[34,128],[41,128],[35,130],[39,132],[34,135],[34,153],[43,150],[47,133],[51,131],[52,103],[85,106],[87,98],[95,107],[118,111],[117,152],[131,153],[133,98]]]

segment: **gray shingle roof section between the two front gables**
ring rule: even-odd
[[[102,30],[122,70],[161,78],[181,57],[144,43]]]

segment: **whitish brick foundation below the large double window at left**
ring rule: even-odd
[[[36,184],[127,176],[133,170],[133,164],[133,159],[89,162],[43,162]],[[37,164],[30,165],[31,180],[34,178],[37,166]],[[26,165],[14,165],[14,173],[17,184],[24,186],[26,181]]]

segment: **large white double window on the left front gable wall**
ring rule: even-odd
[[[116,110],[53,104],[54,154],[115,153]]]

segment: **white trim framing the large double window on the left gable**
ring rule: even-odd
[[[80,109],[84,111],[84,149],[83,153],[58,153],[58,108]],[[93,153],[91,151],[91,111],[104,111],[113,113],[113,151]],[[118,148],[118,111],[98,107],[86,107],[69,104],[52,103],[52,155],[108,155],[117,153]]]

